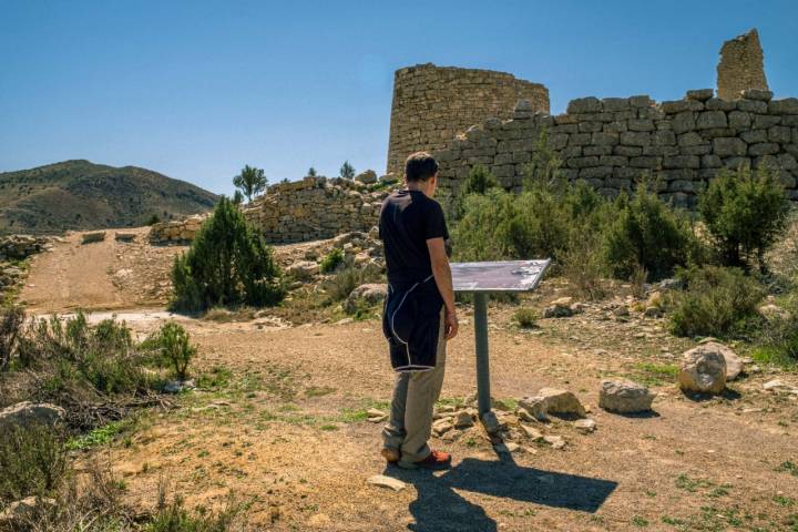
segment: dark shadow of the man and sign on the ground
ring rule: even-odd
[[[593,513],[617,485],[610,480],[524,468],[507,453],[499,454],[499,461],[467,458],[440,477],[427,470],[396,467],[388,468],[385,474],[416,487],[418,498],[409,508],[416,523],[408,525],[415,532],[497,530],[497,522],[482,507],[463,499],[454,489]]]

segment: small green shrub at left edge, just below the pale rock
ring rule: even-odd
[[[49,497],[69,468],[60,430],[39,423],[12,424],[0,438],[0,502]]]

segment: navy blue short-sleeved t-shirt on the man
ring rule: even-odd
[[[382,202],[379,236],[389,283],[416,283],[432,275],[427,241],[449,239],[443,209],[422,192],[402,190]]]

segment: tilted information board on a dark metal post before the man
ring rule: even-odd
[[[480,419],[491,411],[488,356],[488,297],[491,293],[533,290],[549,267],[545,260],[452,263],[454,291],[473,294],[477,403]]]

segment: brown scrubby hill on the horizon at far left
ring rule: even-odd
[[[216,195],[146,168],[64,161],[0,173],[0,234],[134,227],[213,207]]]

